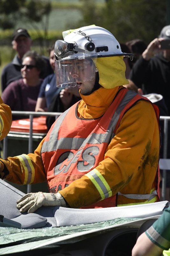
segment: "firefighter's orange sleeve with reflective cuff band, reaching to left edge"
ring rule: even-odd
[[[22,154],[6,159],[0,158],[0,178],[19,185],[46,181],[40,155],[43,141],[44,139],[40,142],[34,154]]]

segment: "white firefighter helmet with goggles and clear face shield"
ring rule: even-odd
[[[54,55],[57,57],[55,62],[56,84],[58,87],[74,87],[76,84],[81,87],[84,82],[88,86],[88,81],[95,81],[96,67],[99,70],[100,82],[101,77],[104,77],[103,62],[105,67],[109,67],[109,63],[104,60],[109,60],[108,57],[115,58],[118,61],[114,70],[111,72],[124,76],[124,61],[123,57],[133,56],[132,53],[122,52],[119,42],[105,28],[95,25],[67,30],[63,34],[63,40],[57,40],[54,47]],[[100,61],[103,59],[103,62]],[[96,64],[96,66],[95,66]],[[113,75],[109,74],[110,77]],[[104,80],[104,79],[103,79]],[[112,84],[112,79],[109,84]],[[118,84],[127,83],[117,81]],[[90,83],[92,84],[92,83]],[[105,87],[106,82],[101,84]],[[111,85],[110,85],[111,86]],[[113,88],[113,87],[109,87]]]

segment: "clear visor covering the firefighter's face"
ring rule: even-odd
[[[92,59],[69,59],[55,61],[55,76],[57,87],[74,87],[76,83],[93,81],[96,66]]]

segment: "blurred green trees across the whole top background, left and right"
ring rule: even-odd
[[[148,44],[167,25],[166,1],[169,0],[105,0],[103,3],[79,0],[81,5],[72,5],[68,0],[69,12],[71,7],[81,6],[82,19],[74,22],[73,17],[66,30],[95,24],[108,29],[121,43],[139,38]],[[55,8],[57,4],[60,5],[55,2]],[[40,46],[47,46],[48,20],[53,5],[53,0],[0,0],[0,28],[14,28],[17,21],[22,20],[36,31]],[[37,26],[37,22],[41,26]]]

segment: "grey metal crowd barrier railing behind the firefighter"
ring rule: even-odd
[[[34,116],[55,116],[55,119],[58,118],[62,113],[59,112],[29,112],[29,111],[12,111],[12,115],[22,115],[29,116],[30,119],[30,130],[29,134],[25,135],[28,138],[28,153],[32,153],[32,140],[36,137],[36,134],[33,133],[33,117]],[[167,145],[168,145],[168,121],[170,116],[160,116],[160,120],[164,121],[164,141],[163,141],[163,158],[167,158]],[[11,132],[4,138],[3,141],[3,158],[7,156],[7,147],[8,147],[8,137],[10,137]],[[28,185],[27,192],[30,192],[31,185]],[[163,170],[162,175],[162,198],[165,200],[166,196],[166,170]]]

